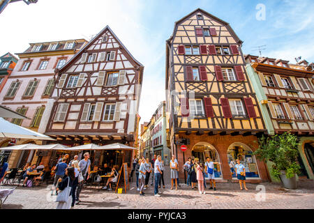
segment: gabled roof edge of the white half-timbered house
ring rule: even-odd
[[[88,49],[94,42],[95,40],[97,40],[98,38],[100,38],[100,36],[103,35],[103,33],[105,33],[106,30],[109,30],[110,33],[112,33],[112,36],[114,36],[114,38],[118,41],[118,43],[121,45],[121,47],[123,47],[126,52],[128,53],[128,55],[133,59],[133,61],[135,61],[135,63],[137,63],[139,66],[143,67],[142,63],[140,63],[139,61],[137,61],[132,54],[130,54],[130,52],[128,52],[128,49],[123,45],[123,43],[121,43],[121,41],[119,40],[119,38],[114,34],[114,32],[110,29],[109,26],[105,26],[105,28],[100,31],[94,38],[92,38],[89,43],[87,43],[87,45],[85,45],[84,47],[82,47],[82,49],[80,49],[79,52],[77,52],[60,70],[56,69],[56,72],[62,72],[63,70],[65,70],[70,63],[72,63],[72,61],[74,61],[75,59],[77,59],[78,56],[80,56],[82,54],[82,52],[84,52],[85,49]]]

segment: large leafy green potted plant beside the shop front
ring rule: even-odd
[[[254,155],[257,159],[272,162],[271,175],[279,178],[283,186],[288,189],[297,189],[297,178],[299,164],[297,156],[299,143],[294,134],[276,134],[273,137],[262,136],[259,139],[260,147]]]

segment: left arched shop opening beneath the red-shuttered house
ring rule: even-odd
[[[206,157],[210,157],[213,162],[219,162],[220,164],[214,164],[214,175],[215,178],[223,178],[219,154],[213,145],[206,142],[199,142],[195,144],[191,151],[191,157],[198,158],[200,163],[203,164],[206,162]],[[205,175],[205,178],[207,178],[207,174]]]

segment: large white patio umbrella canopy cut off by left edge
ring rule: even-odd
[[[18,139],[40,139],[40,140],[56,140],[45,134],[29,130],[19,125],[10,123],[0,117],[0,138],[18,138]]]

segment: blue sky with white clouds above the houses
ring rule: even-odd
[[[262,4],[262,5],[261,5]],[[264,7],[264,14],[261,8]],[[29,43],[85,38],[109,25],[144,65],[140,123],[165,100],[165,40],[174,22],[202,8],[230,23],[244,54],[314,61],[313,0],[38,0],[10,3],[0,14],[0,55],[24,52]]]

